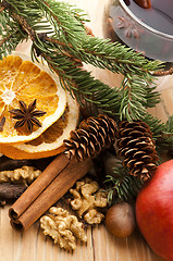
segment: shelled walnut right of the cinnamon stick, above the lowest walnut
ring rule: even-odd
[[[102,190],[97,182],[88,177],[76,182],[75,189],[70,189],[74,197],[71,200],[72,208],[88,224],[99,224],[104,219],[104,214],[98,210],[106,208],[108,203],[108,194]]]

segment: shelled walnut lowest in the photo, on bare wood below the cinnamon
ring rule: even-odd
[[[75,215],[70,215],[66,210],[55,207],[51,207],[49,213],[40,219],[40,227],[45,235],[52,237],[54,244],[59,244],[65,250],[74,250],[75,238],[87,240],[83,223],[78,222]]]

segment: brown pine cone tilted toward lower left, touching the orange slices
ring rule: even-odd
[[[94,158],[102,149],[109,148],[115,140],[116,123],[111,117],[99,114],[90,116],[79,124],[79,128],[71,132],[71,138],[64,139],[64,153],[78,161]]]

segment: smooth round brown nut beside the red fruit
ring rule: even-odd
[[[106,215],[107,229],[115,237],[128,237],[135,228],[135,215],[131,204],[112,206]]]

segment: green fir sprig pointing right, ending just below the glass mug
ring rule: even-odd
[[[97,37],[87,38],[83,49],[77,53],[78,58],[85,59],[86,63],[111,72],[143,75],[147,79],[148,73],[157,70],[160,62],[147,62],[146,59],[134,50],[109,39]]]

